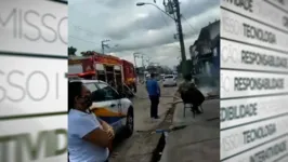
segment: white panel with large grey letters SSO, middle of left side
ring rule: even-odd
[[[67,111],[66,59],[0,58],[0,117]]]

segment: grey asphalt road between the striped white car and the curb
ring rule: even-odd
[[[152,134],[152,131],[163,120],[168,110],[168,103],[176,87],[161,87],[161,95],[158,107],[160,120],[153,122],[149,119],[149,99],[144,85],[139,85],[135,98],[132,99],[134,105],[134,133],[133,135],[117,144],[109,158],[110,162],[148,162],[150,154],[155,149],[159,137]]]

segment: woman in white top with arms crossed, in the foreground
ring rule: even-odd
[[[107,162],[113,129],[90,113],[91,92],[81,82],[68,86],[69,162]]]

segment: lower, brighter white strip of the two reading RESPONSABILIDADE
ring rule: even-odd
[[[221,70],[221,98],[288,93],[288,75]]]

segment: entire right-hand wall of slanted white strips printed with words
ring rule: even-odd
[[[285,162],[288,1],[221,6],[221,161]]]

